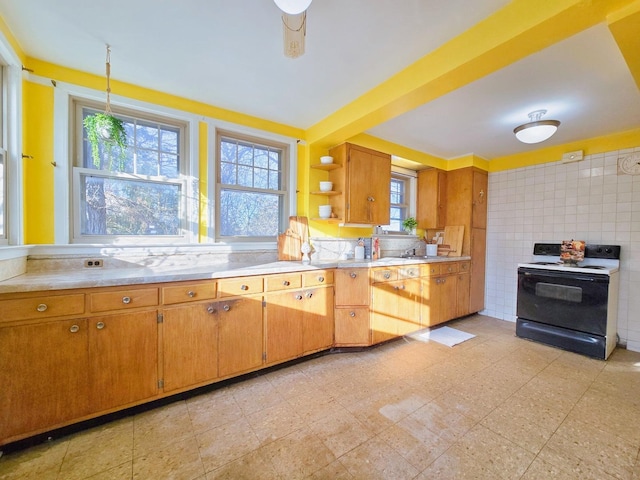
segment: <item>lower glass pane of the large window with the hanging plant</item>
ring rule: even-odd
[[[80,175],[82,235],[179,235],[180,184]]]

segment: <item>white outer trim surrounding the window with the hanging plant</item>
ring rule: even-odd
[[[34,76],[34,81],[44,85],[50,85],[48,79]],[[73,159],[71,158],[70,141],[75,138],[75,132],[70,132],[70,114],[71,114],[71,97],[86,99],[89,101],[103,102],[105,101],[105,93],[97,90],[80,87],[64,82],[56,82],[54,89],[54,120],[53,120],[53,138],[54,138],[54,215],[56,217],[54,238],[55,243],[60,245],[71,244],[71,232],[73,221],[71,208],[71,185],[73,183]],[[151,115],[171,117],[178,121],[188,124],[189,144],[187,155],[187,168],[184,175],[186,181],[186,223],[187,233],[183,238],[172,237],[171,242],[161,243],[158,238],[141,237],[132,238],[124,237],[110,241],[107,244],[131,244],[131,245],[165,245],[177,243],[196,243],[198,240],[198,117],[193,114],[185,113],[160,105],[149,104],[130,98],[124,98],[117,95],[111,95],[111,104],[121,108],[148,113]],[[82,240],[85,240],[83,238]],[[105,242],[106,243],[106,242]],[[84,242],[74,243],[82,245]]]

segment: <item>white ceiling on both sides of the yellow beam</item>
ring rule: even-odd
[[[113,79],[307,129],[507,3],[314,0],[294,60],[272,0],[0,0],[0,15],[29,57],[104,75],[108,43]],[[640,91],[606,25],[368,133],[491,159],[539,148],[512,134],[539,108],[562,122],[545,146],[640,127]]]

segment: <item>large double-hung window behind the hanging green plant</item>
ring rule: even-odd
[[[100,144],[100,158],[95,161],[83,120],[100,111],[76,103],[81,144],[73,169],[74,240],[184,239],[186,126],[171,119],[114,111],[124,123],[127,148]]]

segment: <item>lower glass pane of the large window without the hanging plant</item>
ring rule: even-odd
[[[220,235],[275,236],[279,230],[280,195],[222,190]]]

